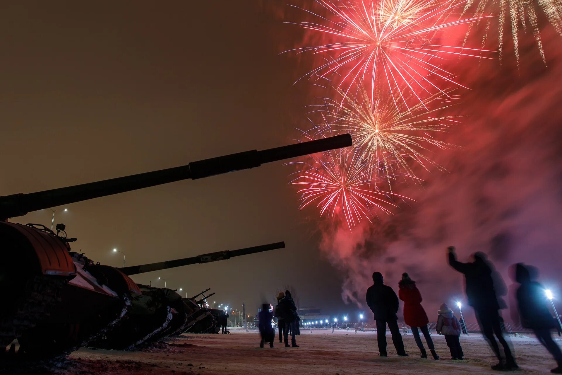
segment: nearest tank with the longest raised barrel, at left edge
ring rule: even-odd
[[[122,306],[121,309],[117,308],[119,313],[112,316],[119,321],[130,304],[126,295],[141,293],[140,288],[120,270],[94,264],[84,255],[70,251],[69,243],[76,239],[67,237],[64,228],[57,230],[55,234],[40,224],[14,224],[8,223],[7,219],[35,210],[178,180],[199,179],[256,168],[267,162],[347,147],[351,143],[351,135],[343,134],[268,150],[234,153],[127,177],[1,196],[0,241],[4,252],[0,262],[0,288],[4,293],[4,301],[9,302],[4,303],[0,310],[0,348],[5,348],[15,338],[19,339],[21,347],[27,348],[29,353],[47,351],[49,345],[57,347],[52,345],[51,338],[35,341],[38,340],[38,335],[32,335],[31,329],[47,318],[58,319],[60,316],[67,319],[67,324],[61,328],[58,336],[74,337],[76,341],[78,337],[87,336],[85,332],[80,333],[80,322],[96,320],[99,314],[108,317],[110,314],[107,311],[114,310],[108,308],[110,305]],[[120,290],[108,288],[104,284],[106,279],[119,285]],[[65,301],[72,308],[61,311],[61,303]],[[83,307],[76,303],[78,301],[84,302]],[[94,304],[94,301],[99,303]],[[89,306],[94,306],[94,309],[88,309]],[[81,310],[85,310],[85,315],[78,317],[76,314]],[[62,332],[67,328],[67,332]]]

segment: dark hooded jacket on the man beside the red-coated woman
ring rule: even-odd
[[[379,272],[373,274],[373,285],[367,290],[365,299],[375,320],[398,320],[396,313],[400,302],[392,288],[384,285],[383,275]]]

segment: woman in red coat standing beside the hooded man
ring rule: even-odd
[[[398,288],[398,298],[404,301],[404,322],[412,329],[414,340],[420,349],[420,356],[422,358],[427,358],[427,353],[425,352],[419,333],[419,331],[422,331],[433,358],[439,359],[435,351],[435,346],[433,345],[433,340],[431,336],[429,336],[429,329],[427,328],[429,319],[422,307],[422,295],[420,295],[420,291],[416,288],[416,282],[413,281],[407,273],[403,273],[402,280],[398,282]]]

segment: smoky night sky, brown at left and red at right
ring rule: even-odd
[[[296,142],[314,97],[294,84],[311,57],[279,54],[305,38],[283,24],[296,14],[283,2],[2,4],[0,192]],[[114,248],[134,265],[285,241],[283,250],[133,277],[164,286],[160,276],[190,296],[210,287],[212,300],[246,301],[250,313],[288,284],[301,306],[364,312],[357,304],[374,270],[391,286],[410,272],[429,313],[463,295],[447,245],[461,260],[490,252],[508,284],[507,265],[537,265],[562,294],[561,39],[547,29],[543,40],[546,66],[533,40],[522,43],[519,69],[513,57],[461,61],[457,73],[473,90],[459,114],[469,117],[446,136],[460,147],[434,157],[449,173],[424,172],[424,188],[403,191],[416,202],[373,225],[338,230],[314,207],[298,211],[294,167],[282,162],[78,202],[56,222],[78,237],[72,250],[114,266],[123,261]],[[51,211],[11,221],[50,225]]]

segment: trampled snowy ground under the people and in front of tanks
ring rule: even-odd
[[[480,335],[461,337],[465,361],[452,361],[445,338],[433,335],[441,360],[419,358],[413,336],[402,335],[408,358],[396,356],[387,336],[388,358],[380,358],[374,332],[301,331],[300,348],[259,348],[255,332],[232,335],[183,335],[139,351],[80,349],[55,374],[490,374],[495,363]],[[558,336],[557,336],[558,337]],[[562,344],[561,340],[556,340]],[[532,337],[511,337],[521,370],[543,374],[556,367],[549,353]],[[429,352],[429,351],[428,351]],[[429,354],[429,353],[428,353]]]

